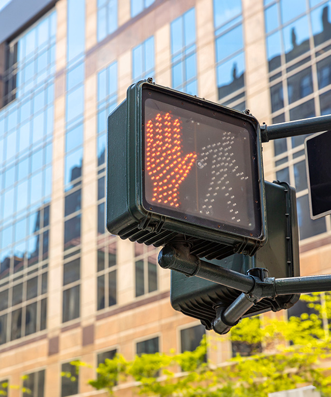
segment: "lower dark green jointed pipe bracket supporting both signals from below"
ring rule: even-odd
[[[247,275],[202,261],[189,253],[185,244],[166,245],[159,253],[158,263],[188,277],[197,276],[233,288],[242,293],[228,306],[216,307],[212,326],[219,334],[227,333],[242,316],[263,298],[279,295],[331,291],[331,275],[273,278],[262,268],[250,269]]]

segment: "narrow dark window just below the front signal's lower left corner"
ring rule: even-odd
[[[97,251],[97,309],[117,303],[116,237],[104,236]]]

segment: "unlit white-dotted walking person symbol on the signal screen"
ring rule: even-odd
[[[236,178],[242,181],[249,177],[244,176],[243,172],[238,171],[238,165],[235,165],[236,160],[233,158],[235,137],[231,135],[231,132],[225,132],[222,137],[222,142],[217,142],[216,144],[207,145],[202,148],[202,159],[197,161],[197,165],[201,164],[200,168],[207,164],[211,167],[211,181],[200,213],[212,215],[215,198],[218,194],[222,194],[226,198],[227,206],[232,215],[231,220],[233,222],[240,222],[240,214],[235,201],[233,188],[230,185],[230,177],[235,175]]]

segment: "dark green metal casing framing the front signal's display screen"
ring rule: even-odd
[[[259,238],[243,237],[236,233],[225,232],[222,228],[215,230],[207,226],[198,226],[144,208],[142,204],[142,90],[144,87],[224,112],[254,125],[258,143],[255,155],[259,169],[258,190],[263,225]],[[137,82],[128,88],[127,98],[108,117],[106,180],[106,227],[109,233],[119,235],[123,239],[161,246],[172,241],[178,234],[184,234],[191,244],[191,252],[207,259],[225,258],[233,252],[253,255],[266,242],[260,125],[251,115],[154,83]]]

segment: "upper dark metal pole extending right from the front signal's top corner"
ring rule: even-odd
[[[268,142],[271,139],[287,138],[289,136],[305,135],[327,130],[331,130],[331,115],[268,126],[264,124],[261,125],[261,136],[262,142]]]

